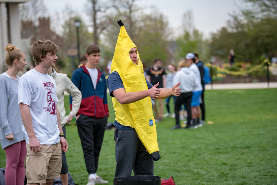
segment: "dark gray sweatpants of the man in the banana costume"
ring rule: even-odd
[[[134,175],[153,175],[154,160],[146,152],[141,140],[136,134],[136,130],[114,131],[116,142],[116,177],[131,176],[132,169]]]

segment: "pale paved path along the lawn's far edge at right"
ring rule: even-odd
[[[267,88],[267,82],[259,83],[232,83],[232,84],[213,84],[213,89],[251,89]],[[269,82],[269,88],[277,88],[277,82]],[[205,85],[205,90],[211,90],[211,84]]]

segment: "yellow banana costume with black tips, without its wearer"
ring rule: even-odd
[[[147,90],[139,54],[137,53],[137,64],[133,63],[129,55],[129,51],[136,45],[128,36],[121,20],[117,23],[120,26],[120,32],[112,59],[111,72],[116,71],[119,73],[125,92]],[[112,104],[116,115],[115,120],[121,125],[134,128],[154,161],[159,160],[161,156],[150,97],[124,105],[120,104],[115,97],[112,97]]]

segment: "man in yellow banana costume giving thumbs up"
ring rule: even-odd
[[[111,65],[107,86],[112,97],[116,119],[115,177],[153,175],[154,161],[159,160],[155,119],[150,97],[164,99],[179,96],[180,82],[172,88],[157,88],[143,74],[137,48],[129,38],[121,21],[120,33]]]

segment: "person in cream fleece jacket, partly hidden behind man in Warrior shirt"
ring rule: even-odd
[[[56,95],[59,99],[57,102],[57,106],[60,112],[61,117],[61,125],[63,129],[63,134],[66,136],[66,128],[65,124],[69,124],[70,121],[74,116],[76,116],[76,113],[79,110],[81,100],[82,100],[82,94],[79,91],[79,89],[71,82],[71,80],[67,77],[66,74],[60,73],[57,68],[49,68],[48,75],[51,75],[55,82],[56,82]],[[72,96],[72,111],[69,113],[68,118],[65,117],[65,109],[64,109],[64,91],[71,94]],[[68,97],[69,98],[69,97]],[[62,153],[62,170],[61,170],[61,180],[63,182],[63,185],[68,184],[68,167],[66,162],[65,153]]]

